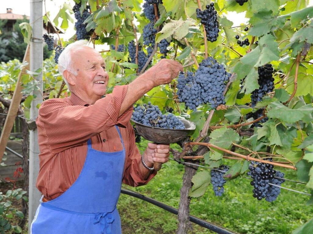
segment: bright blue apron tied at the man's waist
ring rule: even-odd
[[[59,197],[40,202],[31,234],[120,234],[121,219],[116,204],[121,193],[125,163],[123,150],[102,152],[91,148],[77,180]]]

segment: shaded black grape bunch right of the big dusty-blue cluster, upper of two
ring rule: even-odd
[[[256,89],[251,94],[251,106],[255,106],[258,101],[262,100],[262,97],[272,92],[274,89],[274,78],[273,78],[274,68],[272,64],[266,64],[258,68],[259,79],[258,83],[260,85],[259,89]]]

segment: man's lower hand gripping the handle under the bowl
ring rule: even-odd
[[[143,159],[148,167],[152,167],[154,162],[166,163],[168,161],[169,153],[169,144],[148,143],[148,147],[143,155]]]

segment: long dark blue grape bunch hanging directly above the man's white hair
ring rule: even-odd
[[[84,24],[84,21],[90,16],[90,6],[87,5],[86,9],[83,11],[82,14],[80,14],[79,8],[81,7],[80,3],[75,3],[73,7],[75,19],[77,20],[75,22],[75,28],[76,28],[76,35],[77,40],[85,39],[86,36],[91,35],[91,31],[86,31],[86,24]]]

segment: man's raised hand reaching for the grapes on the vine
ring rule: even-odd
[[[171,83],[178,76],[179,71],[184,71],[179,62],[170,59],[161,59],[156,65],[146,71],[144,76],[148,76],[147,78],[156,87]]]

